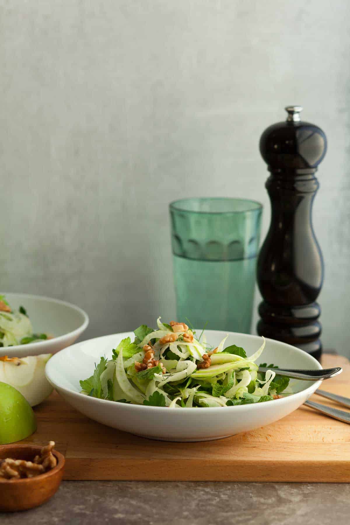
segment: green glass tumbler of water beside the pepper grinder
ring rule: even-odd
[[[249,333],[262,205],[187,198],[169,205],[177,321]]]

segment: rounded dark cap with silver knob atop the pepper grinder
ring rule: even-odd
[[[260,138],[260,153],[271,172],[314,173],[327,151],[321,128],[301,120],[301,106],[286,106],[287,120],[269,126]],[[288,175],[289,176],[289,175]]]

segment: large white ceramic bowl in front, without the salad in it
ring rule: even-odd
[[[208,343],[214,346],[226,335],[226,332],[216,330],[206,330],[205,333]],[[222,408],[171,409],[115,403],[80,394],[79,380],[92,375],[94,363],[100,361],[101,355],[111,358],[112,349],[128,336],[134,337],[133,333],[125,332],[70,346],[48,361],[45,373],[51,385],[82,414],[104,425],[143,437],[204,441],[246,432],[287,416],[321,384],[321,381],[295,381],[294,390],[298,392],[293,395],[265,403]],[[243,346],[249,355],[259,348],[261,338],[230,332],[226,344]],[[274,363],[280,367],[322,369],[309,354],[272,339],[267,339],[259,362]]]

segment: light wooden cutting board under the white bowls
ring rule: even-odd
[[[344,369],[324,390],[350,397],[349,361],[326,354],[322,364]],[[38,430],[24,442],[54,439],[66,455],[65,479],[350,482],[350,425],[305,406],[267,427],[199,443],[119,432],[78,413],[56,392],[35,412]]]

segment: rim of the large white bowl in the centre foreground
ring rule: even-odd
[[[197,329],[196,329],[197,331]],[[245,335],[247,337],[251,337],[251,338],[254,338],[258,341],[261,341],[261,336],[260,335],[255,335],[255,334],[246,334],[246,333],[241,333],[241,332],[227,332],[225,330],[206,330],[206,332],[224,332],[224,333],[227,333],[229,335]],[[68,352],[68,351],[71,351],[74,349],[75,346],[78,346],[78,345],[83,345],[83,344],[87,344],[89,341],[98,341],[98,340],[101,340],[101,339],[107,339],[107,338],[110,338],[110,337],[115,337],[115,336],[119,336],[121,335],[122,337],[128,337],[127,334],[131,334],[133,332],[119,332],[119,333],[114,333],[114,334],[109,334],[109,335],[102,335],[100,337],[96,337],[96,338],[91,338],[91,339],[87,339],[85,341],[79,341],[78,343],[75,343],[75,344],[72,344],[71,346],[67,346],[67,348],[61,350],[60,352],[58,352],[57,354],[53,355],[51,359],[49,359],[49,361],[46,363],[46,366],[45,366],[45,376],[46,376],[46,379],[49,381],[49,383],[55,388],[55,390],[57,390],[58,392],[60,390],[64,391],[66,394],[70,395],[70,396],[73,396],[73,397],[76,397],[77,399],[81,400],[82,397],[84,398],[88,398],[89,401],[88,403],[101,403],[101,404],[105,404],[105,403],[113,403],[113,405],[115,406],[115,404],[117,404],[117,406],[121,409],[121,410],[126,410],[126,411],[129,411],[130,409],[131,410],[134,410],[134,411],[142,411],[142,412],[147,412],[147,411],[159,411],[159,412],[163,412],[163,414],[168,414],[169,411],[168,411],[168,407],[165,406],[148,406],[148,405],[139,405],[139,404],[132,404],[132,403],[116,403],[115,401],[110,401],[110,400],[105,400],[105,399],[99,399],[97,397],[89,397],[87,396],[86,394],[82,394],[81,392],[75,392],[74,390],[70,390],[69,388],[66,388],[64,386],[60,386],[58,385],[57,383],[55,383],[54,380],[52,380],[52,377],[50,376],[50,368],[52,367],[52,370],[55,370],[55,362],[56,362],[56,359],[61,359],[63,358],[63,355],[65,352]],[[271,339],[271,338],[265,338],[266,339],[266,342],[268,343],[269,341],[273,342],[273,343],[280,343],[280,344],[283,344],[284,346],[287,346],[288,348],[292,348],[293,351],[297,351],[297,353],[301,353],[301,354],[305,354],[306,352],[304,352],[303,350],[301,350],[300,348],[296,348],[296,346],[293,346],[291,344],[288,344],[288,343],[283,343],[282,341],[277,341],[275,339]],[[60,355],[59,355],[60,354]],[[317,365],[317,368],[316,370],[322,370],[322,366],[321,364],[315,359],[313,358],[312,355],[310,354],[307,354],[306,355],[309,356],[309,358],[311,359],[311,361],[313,361],[316,365]],[[96,358],[97,359],[97,358]],[[312,382],[311,385],[307,388],[304,388],[303,390],[301,390],[300,392],[295,392],[293,394],[290,394],[286,397],[282,397],[282,398],[279,398],[279,399],[275,399],[273,400],[273,403],[280,403],[281,405],[282,404],[287,404],[288,403],[288,400],[293,397],[295,398],[295,396],[302,396],[304,395],[305,393],[309,394],[313,394],[313,392],[315,392],[315,390],[317,388],[319,388],[319,386],[321,385],[322,383],[322,380],[319,380],[319,381],[315,381],[315,382]],[[269,406],[276,406],[276,405],[271,405],[270,403],[272,403],[272,400],[269,402],[269,401],[266,401],[264,403],[264,406],[267,406],[267,403],[269,404]],[[181,414],[185,414],[185,413],[192,413],[195,411],[196,414],[198,413],[208,413],[207,411],[210,411],[210,413],[220,413],[222,414],[222,411],[221,409],[222,408],[225,408],[225,411],[232,411],[232,409],[235,411],[235,412],[239,412],[239,411],[253,411],[253,410],[256,410],[259,408],[259,403],[252,403],[252,404],[247,404],[247,405],[237,405],[237,406],[226,406],[226,407],[205,407],[205,411],[198,411],[198,409],[196,407],[188,407],[188,408],[185,408],[185,407],[177,407],[175,411],[171,411],[172,414],[174,413],[177,413],[179,414],[179,409],[182,409],[181,410]]]

